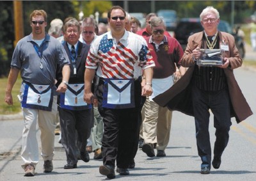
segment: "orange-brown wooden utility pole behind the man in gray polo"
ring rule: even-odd
[[[15,29],[15,40],[13,45],[15,47],[17,42],[24,37],[22,1],[13,1],[13,13]]]

